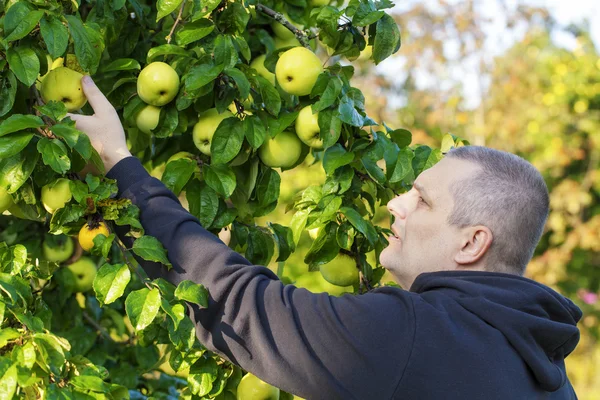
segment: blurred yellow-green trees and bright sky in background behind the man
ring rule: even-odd
[[[395,15],[402,27],[402,50],[376,69],[356,60],[354,84],[366,96],[369,115],[410,130],[413,144],[439,146],[443,136],[452,133],[474,145],[517,154],[542,173],[551,211],[527,277],[568,296],[584,311],[581,342],[567,358],[567,370],[580,399],[598,399],[598,44],[589,26],[563,26],[551,11],[521,3],[509,7],[501,0],[412,2]],[[491,5],[497,10],[492,16]],[[304,168],[282,175],[277,215],[284,223],[291,219],[286,203],[324,179],[322,168],[310,164],[307,160]],[[376,215],[389,226],[383,207]],[[303,237],[285,265],[271,268],[288,282],[315,292],[345,292],[319,273],[306,273],[302,258],[311,240]],[[391,277],[384,276],[386,280]]]

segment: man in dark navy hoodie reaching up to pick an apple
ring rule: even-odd
[[[548,215],[531,164],[483,147],[453,150],[388,204],[394,235],[381,263],[410,290],[313,294],[203,229],[130,155],[91,79],[83,85],[95,115],[71,118],[173,264],[167,272],[144,262],[146,272],[210,292],[207,309],[189,308],[208,349],[311,400],[576,398],[564,358],[579,341],[581,311],[522,277]]]

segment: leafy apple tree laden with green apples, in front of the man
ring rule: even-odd
[[[411,146],[409,131],[365,113],[352,61],[367,46],[375,64],[399,50],[392,6],[2,0],[0,396],[244,398],[244,371],[204,348],[185,314],[210,288],[140,267],[171,265],[67,116],[93,112],[83,75],[116,108],[132,154],[232,249],[284,263],[317,229],[307,271],[356,295],[381,285],[384,269],[365,256],[387,245],[376,208],[464,143]],[[309,153],[324,184],[287,205],[290,226],[258,226]]]

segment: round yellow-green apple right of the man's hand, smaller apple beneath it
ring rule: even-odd
[[[169,64],[155,61],[140,72],[137,91],[144,103],[164,106],[179,92],[179,75]]]

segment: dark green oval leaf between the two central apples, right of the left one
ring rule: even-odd
[[[237,118],[224,119],[215,131],[210,144],[212,162],[226,164],[233,160],[242,149],[243,143],[244,123]]]

